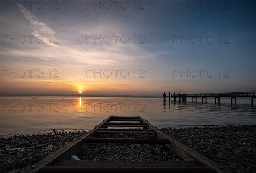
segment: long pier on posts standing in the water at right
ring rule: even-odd
[[[182,92],[182,94],[180,94]],[[253,92],[229,92],[229,93],[195,93],[195,94],[185,94],[183,90],[180,90],[178,94],[171,94],[169,92],[169,96],[166,96],[169,98],[169,102],[177,101],[177,102],[186,102],[187,97],[192,97],[192,102],[197,102],[198,97],[202,98],[202,102],[207,103],[207,98],[212,97],[215,98],[215,104],[216,99],[218,99],[218,104],[220,104],[220,98],[221,97],[230,97],[231,98],[231,104],[233,104],[233,100],[236,104],[236,98],[237,97],[250,97],[251,98],[251,104],[253,105],[253,99],[256,99],[256,91]],[[163,96],[164,100],[164,96]],[[165,99],[166,100],[166,99]]]

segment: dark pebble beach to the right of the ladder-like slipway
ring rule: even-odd
[[[256,173],[256,125],[160,130],[233,173]]]

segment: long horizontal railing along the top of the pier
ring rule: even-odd
[[[256,92],[230,92],[230,93],[196,93],[196,94],[185,94],[186,97],[254,97],[256,96]],[[173,97],[174,94],[171,94]],[[179,96],[179,94],[175,94],[175,96]],[[183,94],[180,94],[183,96]]]

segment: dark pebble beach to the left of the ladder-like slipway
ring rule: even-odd
[[[18,173],[86,133],[55,131],[0,137],[0,172]]]

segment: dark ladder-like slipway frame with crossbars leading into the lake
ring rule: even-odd
[[[134,123],[138,120],[138,123]],[[114,122],[112,122],[114,121]],[[118,123],[120,121],[120,123]],[[123,122],[125,121],[125,122]],[[130,123],[127,123],[131,121]],[[143,129],[129,129],[128,127],[142,127]],[[111,129],[109,126],[125,127],[123,129]],[[98,133],[147,133],[154,135],[154,139],[140,138],[99,138]],[[71,155],[79,153],[85,143],[137,143],[137,144],[162,144],[174,150],[184,161],[89,161],[70,160]],[[109,116],[93,130],[85,133],[79,139],[64,146],[60,150],[52,153],[45,159],[26,169],[24,173],[69,173],[69,172],[97,173],[107,171],[112,173],[148,173],[157,172],[169,173],[230,173],[224,167],[212,162],[195,150],[183,145],[166,133],[156,129],[153,125],[141,116],[122,117]]]

